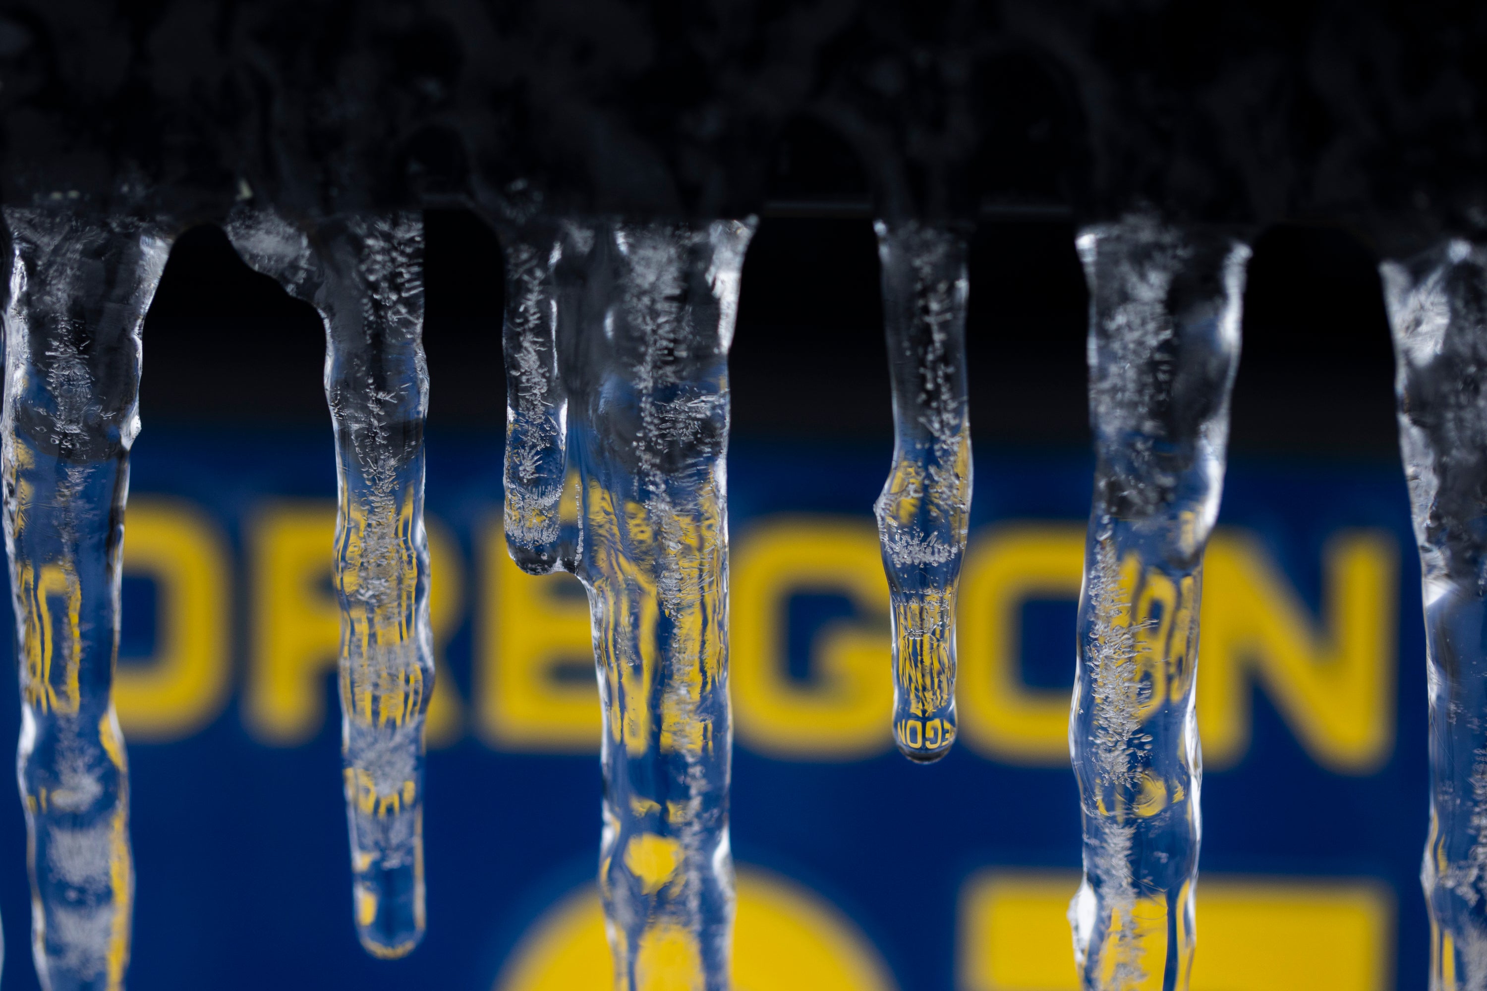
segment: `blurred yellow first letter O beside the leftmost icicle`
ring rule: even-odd
[[[119,664],[119,725],[131,740],[180,740],[210,724],[232,676],[229,559],[216,524],[180,499],[132,496],[123,574],[156,588],[155,651]]]

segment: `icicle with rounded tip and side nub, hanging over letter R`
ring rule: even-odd
[[[401,957],[424,936],[424,713],[434,688],[424,535],[424,227],[338,217],[312,238],[266,212],[228,230],[256,269],[326,322],[336,429],[341,707],[352,900],[361,945]]]

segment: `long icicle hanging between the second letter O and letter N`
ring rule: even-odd
[[[1083,987],[1188,987],[1201,834],[1194,718],[1203,548],[1218,516],[1249,248],[1129,217],[1078,241],[1090,285],[1094,505],[1069,747]]]

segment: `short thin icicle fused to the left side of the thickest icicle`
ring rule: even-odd
[[[550,574],[565,557],[571,568],[572,557],[559,520],[568,443],[553,294],[561,259],[552,224],[526,224],[506,242],[506,547],[534,575]]]

